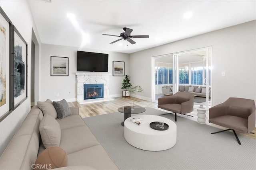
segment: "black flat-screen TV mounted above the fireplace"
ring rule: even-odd
[[[108,72],[108,54],[77,51],[77,71]]]

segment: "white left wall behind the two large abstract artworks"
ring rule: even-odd
[[[32,27],[38,36],[37,29],[34,25],[32,14],[27,1],[21,0],[1,0],[0,6],[10,18],[12,23],[18,29],[22,37],[28,43],[28,98],[18,106],[10,115],[0,122],[0,155],[20,127],[27,113],[30,111],[30,64],[31,64],[31,36]]]

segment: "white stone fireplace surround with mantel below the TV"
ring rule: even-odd
[[[109,98],[110,75],[111,74],[109,73],[102,72],[77,72],[77,102],[79,104],[86,104],[113,100],[112,98]],[[104,98],[84,100],[84,84],[104,84]]]

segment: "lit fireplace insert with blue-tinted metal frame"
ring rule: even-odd
[[[84,100],[104,98],[104,84],[84,84]]]

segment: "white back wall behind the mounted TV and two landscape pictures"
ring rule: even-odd
[[[68,102],[76,101],[76,47],[67,47],[60,45],[42,44],[41,68],[41,90],[40,99],[62,100]],[[125,62],[125,74],[129,74],[129,55],[124,53],[115,53],[108,51],[99,51],[92,49],[82,49],[80,51],[89,51],[94,53],[106,53],[108,55],[108,73],[110,76],[110,97],[122,96],[121,84],[124,76],[112,76],[112,61]],[[69,76],[50,76],[50,57],[68,57],[69,58]],[[59,93],[59,96],[56,96]]]

